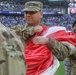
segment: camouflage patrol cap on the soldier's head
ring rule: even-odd
[[[25,3],[25,8],[22,11],[40,11],[43,8],[43,3],[39,1],[29,1]]]

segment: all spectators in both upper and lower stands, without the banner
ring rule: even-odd
[[[14,1],[5,1],[0,2],[0,11],[21,11],[24,8],[19,2]],[[62,8],[54,7],[50,8],[48,5],[44,5],[43,12],[63,12]],[[51,14],[44,14],[44,18],[42,19],[43,24],[48,26],[64,26],[67,30],[71,30],[72,23],[76,21],[76,14],[62,14],[57,16],[52,16]],[[2,15],[0,14],[0,22],[6,27],[12,27],[15,25],[24,25],[26,22],[22,15]]]

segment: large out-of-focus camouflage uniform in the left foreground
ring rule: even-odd
[[[26,65],[20,38],[0,24],[0,75],[25,75]]]

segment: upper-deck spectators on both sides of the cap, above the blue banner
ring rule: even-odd
[[[24,8],[24,5],[16,2],[0,2],[0,11],[21,11]],[[44,5],[43,12],[63,12],[61,7],[50,8],[49,5]]]

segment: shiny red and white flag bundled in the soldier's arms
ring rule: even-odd
[[[76,46],[76,36],[72,32],[67,32],[64,27],[56,26],[49,28],[43,26],[43,31],[36,33],[34,37],[36,36],[51,36],[58,41],[67,41]],[[25,56],[27,63],[26,75],[54,75],[59,66],[59,62],[51,50],[45,44],[35,45],[33,39],[25,47]]]

